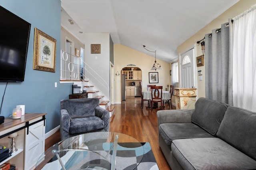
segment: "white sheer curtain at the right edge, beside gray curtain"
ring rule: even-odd
[[[256,5],[233,20],[233,105],[256,112]]]

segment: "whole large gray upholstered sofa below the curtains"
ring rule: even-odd
[[[195,109],[157,112],[172,170],[256,169],[256,113],[199,98]]]

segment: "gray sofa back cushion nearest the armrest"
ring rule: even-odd
[[[201,97],[196,101],[191,121],[216,136],[228,107],[228,104]]]

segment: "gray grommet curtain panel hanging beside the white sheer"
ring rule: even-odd
[[[205,35],[206,98],[233,105],[232,22]]]

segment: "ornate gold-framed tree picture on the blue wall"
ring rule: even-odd
[[[35,28],[33,69],[55,72],[56,40]]]

